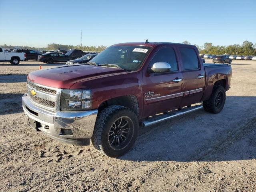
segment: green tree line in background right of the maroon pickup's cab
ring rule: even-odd
[[[184,41],[183,43],[190,45],[190,42],[188,41]],[[203,46],[198,46],[196,44],[195,46],[201,54],[256,55],[256,44],[249,41],[244,41],[242,45],[213,46],[212,43],[204,43]]]

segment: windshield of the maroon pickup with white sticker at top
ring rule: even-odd
[[[90,60],[90,62],[95,62],[97,65],[114,64],[124,70],[136,71],[142,65],[149,50],[149,46],[111,46]]]

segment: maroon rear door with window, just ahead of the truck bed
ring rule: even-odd
[[[205,74],[198,52],[192,46],[179,46],[183,69],[184,97],[181,106],[201,101],[204,93]]]

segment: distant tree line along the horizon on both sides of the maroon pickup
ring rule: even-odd
[[[184,41],[184,44],[190,44],[188,41]],[[256,44],[253,44],[249,41],[244,41],[242,45],[240,44],[234,44],[234,45],[228,45],[228,46],[213,46],[212,43],[204,43],[203,46],[198,46],[195,44],[195,46],[198,48],[199,52],[202,54],[232,54],[232,55],[256,55]],[[3,48],[14,48],[14,46],[6,45],[4,44],[2,46]],[[107,46],[82,46],[82,45],[62,45],[62,44],[48,44],[45,48],[36,48],[36,47],[29,47],[24,46],[23,49],[38,49],[38,50],[56,50],[56,49],[80,49],[83,51],[103,51],[107,48]]]

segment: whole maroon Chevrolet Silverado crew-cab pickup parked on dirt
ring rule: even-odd
[[[230,65],[203,64],[192,45],[115,44],[86,64],[31,72],[22,106],[34,130],[69,144],[91,139],[117,157],[132,147],[139,125],[201,108],[220,112],[231,74]]]

